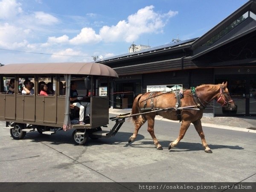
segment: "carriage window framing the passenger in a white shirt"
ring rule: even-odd
[[[18,95],[34,95],[35,78],[34,76],[20,76],[18,82]]]

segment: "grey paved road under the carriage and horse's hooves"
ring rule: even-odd
[[[169,151],[180,124],[161,120],[155,122],[155,134],[163,151],[154,148],[145,125],[128,145],[134,128],[127,121],[115,137],[89,140],[85,146],[73,144],[73,130],[50,136],[34,131],[13,140],[4,126],[0,122],[0,182],[256,181],[255,133],[203,127],[213,152],[207,154],[193,125]]]

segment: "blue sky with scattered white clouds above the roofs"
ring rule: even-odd
[[[0,0],[0,63],[91,62],[198,38],[248,0]]]

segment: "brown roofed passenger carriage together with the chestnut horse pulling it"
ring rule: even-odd
[[[57,131],[73,131],[73,140],[84,145],[88,137],[92,139],[114,136],[125,118],[131,117],[135,124],[134,134],[129,142],[137,137],[140,127],[148,121],[148,132],[157,149],[163,149],[154,135],[156,115],[166,119],[182,121],[179,137],[169,144],[173,148],[183,138],[191,123],[201,137],[205,151],[211,153],[201,126],[203,109],[213,99],[229,110],[235,105],[230,98],[226,84],[201,85],[176,93],[151,92],[140,94],[134,99],[131,113],[111,117],[115,125],[110,131],[102,131],[108,125],[110,108],[110,79],[117,73],[108,66],[98,63],[41,63],[8,64],[0,67],[0,120],[6,122],[15,140],[25,137],[27,132],[37,130],[40,134],[55,134]],[[6,86],[7,79],[13,79],[12,91]],[[70,105],[70,81],[79,85],[81,101],[90,103],[90,117],[82,125],[78,124],[80,111]],[[30,94],[23,94],[22,81],[34,84]],[[9,82],[9,81],[8,81]],[[39,94],[39,85],[52,84],[52,94]],[[104,90],[101,92],[101,90]],[[33,94],[32,94],[33,93]]]

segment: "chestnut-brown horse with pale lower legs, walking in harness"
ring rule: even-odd
[[[223,82],[222,84],[216,85],[203,84],[191,90],[184,90],[183,95],[184,97],[180,99],[181,107],[193,106],[194,108],[199,108],[200,110],[180,110],[180,120],[182,122],[180,126],[180,134],[174,142],[169,144],[169,149],[174,148],[180,142],[180,140],[184,137],[186,130],[189,128],[189,125],[193,123],[196,131],[201,137],[202,144],[205,148],[204,151],[207,153],[212,153],[204,138],[201,118],[203,116],[203,109],[213,99],[217,100],[218,103],[230,111],[235,109],[235,105],[227,89],[227,82],[225,84]],[[145,111],[145,109],[149,109],[149,111],[151,111],[151,109],[157,108],[175,108],[176,103],[177,99],[175,98],[174,93],[151,92],[140,94],[134,99],[131,114],[141,113],[141,111]],[[140,127],[146,121],[148,121],[148,132],[154,141],[154,145],[158,150],[163,150],[162,146],[160,143],[158,143],[157,138],[154,135],[154,118],[156,115],[160,115],[166,119],[179,120],[177,111],[179,110],[156,110],[155,112],[132,116],[135,129],[134,134],[129,138],[129,143],[137,137]]]

